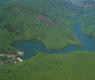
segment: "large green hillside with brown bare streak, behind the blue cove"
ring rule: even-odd
[[[0,54],[6,54],[6,50],[9,54],[16,53],[13,43],[31,39],[43,42],[47,49],[62,49],[68,44],[81,46],[72,31],[76,15],[81,11],[78,9],[64,0],[3,1]]]

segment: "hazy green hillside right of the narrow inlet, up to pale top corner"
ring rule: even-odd
[[[95,0],[66,0],[82,8],[81,20],[83,33],[89,37],[95,37]]]

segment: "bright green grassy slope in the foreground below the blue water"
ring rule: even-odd
[[[95,80],[95,53],[39,53],[24,62],[0,66],[0,80]]]

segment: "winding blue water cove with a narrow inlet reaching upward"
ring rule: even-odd
[[[38,54],[38,52],[46,52],[49,54],[54,53],[69,53],[72,51],[92,51],[95,52],[95,38],[91,38],[88,36],[85,36],[82,33],[82,24],[80,17],[77,19],[77,24],[74,25],[73,31],[77,38],[82,42],[82,47],[76,47],[73,45],[68,45],[66,48],[62,50],[47,50],[43,43],[36,41],[36,40],[27,40],[27,41],[21,41],[18,43],[13,44],[13,47],[15,47],[18,50],[24,51],[26,54],[21,57],[23,60],[26,60],[28,58],[31,58],[32,56],[35,56]]]

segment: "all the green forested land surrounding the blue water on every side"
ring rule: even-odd
[[[48,50],[81,47],[72,30],[77,16],[83,33],[95,37],[94,2],[71,1],[0,0],[0,80],[95,80],[95,52],[39,52],[13,64],[19,55],[12,45],[19,41],[37,40]]]

